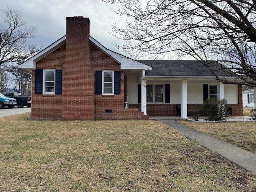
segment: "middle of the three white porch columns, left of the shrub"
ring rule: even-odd
[[[180,90],[181,90],[180,118],[187,119],[188,118],[187,80],[182,80]]]

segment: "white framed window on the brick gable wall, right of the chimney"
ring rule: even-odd
[[[114,71],[102,71],[102,94],[114,95]]]

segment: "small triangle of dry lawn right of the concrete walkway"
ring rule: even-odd
[[[183,124],[198,131],[256,152],[256,122],[190,122],[179,120]]]

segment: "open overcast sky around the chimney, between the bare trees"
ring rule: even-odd
[[[20,10],[28,25],[37,26],[32,42],[44,47],[66,34],[66,16],[84,16],[90,18],[91,36],[121,53],[113,44],[122,44],[122,41],[108,33],[111,22],[126,22],[126,18],[114,13],[118,4],[106,4],[101,0],[1,0],[1,9],[6,6]]]

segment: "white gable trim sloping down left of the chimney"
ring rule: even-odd
[[[44,50],[40,51],[38,54],[34,55],[30,59],[22,63],[19,68],[21,69],[36,69],[36,61],[40,60],[44,56],[48,55],[50,52],[56,50],[58,47],[62,46],[66,42],[66,35],[58,39],[56,42],[46,47]]]

